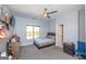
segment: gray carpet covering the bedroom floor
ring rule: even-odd
[[[21,48],[19,60],[74,60],[75,57],[64,53],[62,49],[51,46],[38,50],[35,46]]]

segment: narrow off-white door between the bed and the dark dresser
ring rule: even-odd
[[[63,25],[59,25],[58,27],[58,44],[63,48]]]

